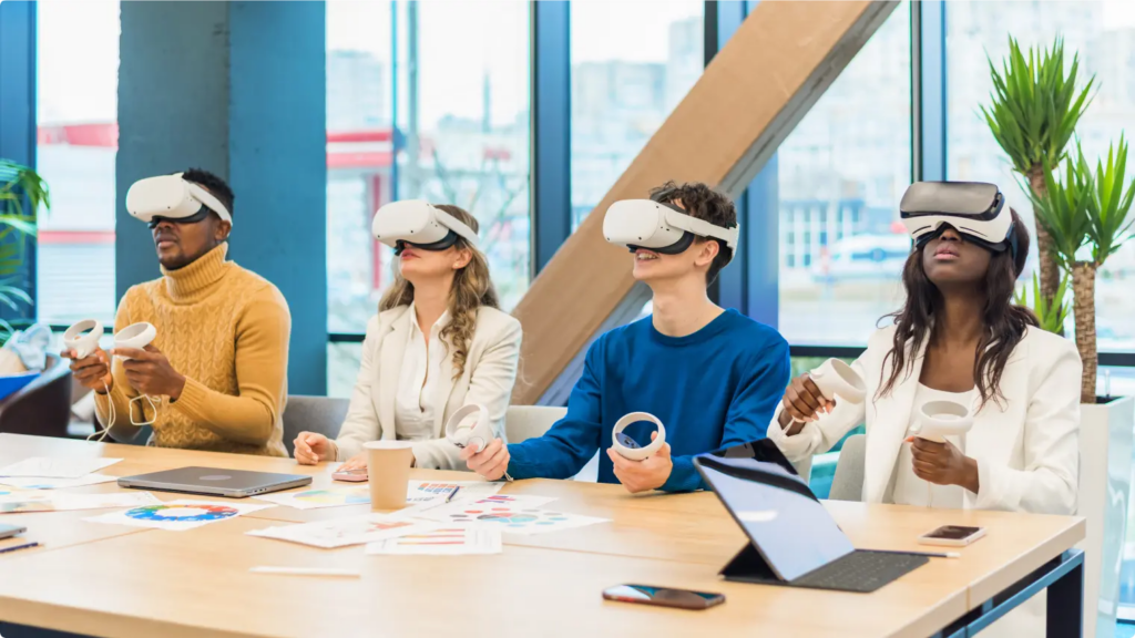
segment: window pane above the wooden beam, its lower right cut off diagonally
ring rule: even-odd
[[[572,2],[573,229],[701,75],[703,6]]]

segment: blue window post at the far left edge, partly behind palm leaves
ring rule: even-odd
[[[35,167],[35,2],[0,2],[0,158]],[[25,201],[25,205],[27,202]],[[35,300],[35,241],[22,237],[24,266],[19,287]],[[35,307],[0,307],[9,321],[30,320]]]

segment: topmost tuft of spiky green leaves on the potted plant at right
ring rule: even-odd
[[[993,66],[993,60],[989,65],[992,104],[981,109],[1014,168],[1027,175],[1045,162],[1059,163],[1076,124],[1092,101],[1095,77],[1088,78],[1083,90],[1076,90],[1079,56],[1073,56],[1071,68],[1065,76],[1063,40],[1059,37],[1051,51],[1029,48],[1026,57],[1010,36],[1009,56],[1001,70]]]

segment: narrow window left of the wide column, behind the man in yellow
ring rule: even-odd
[[[118,2],[36,7],[36,168],[52,203],[40,219],[39,320],[114,324]]]

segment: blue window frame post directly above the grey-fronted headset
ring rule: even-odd
[[[914,179],[947,178],[945,2],[911,2]]]

